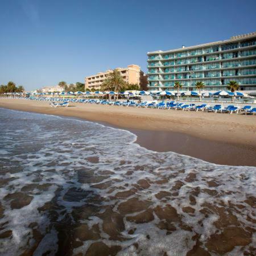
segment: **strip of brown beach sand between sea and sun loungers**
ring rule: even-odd
[[[256,116],[71,104],[0,98],[0,107],[89,121],[130,130],[150,150],[173,151],[217,164],[256,166]]]

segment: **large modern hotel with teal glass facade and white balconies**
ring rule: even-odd
[[[198,81],[204,90],[226,90],[237,81],[239,90],[256,92],[256,32],[147,55],[149,90],[174,90],[177,81],[183,90],[196,90]]]

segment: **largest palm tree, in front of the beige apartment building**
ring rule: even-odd
[[[113,90],[114,92],[119,92],[123,86],[126,85],[125,80],[121,76],[121,73],[114,69],[113,72],[109,73],[108,77],[101,84],[101,90]],[[118,94],[117,94],[118,100]]]

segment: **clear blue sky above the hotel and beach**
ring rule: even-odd
[[[255,0],[0,0],[0,84],[27,90],[138,64],[148,51],[256,31]]]

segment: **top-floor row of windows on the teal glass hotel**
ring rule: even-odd
[[[241,43],[241,47],[255,46],[255,45],[256,45],[255,40]],[[174,59],[177,57],[195,56],[195,55],[201,55],[201,54],[205,54],[205,53],[227,51],[227,50],[236,49],[236,48],[238,48],[237,43],[225,44],[224,46],[221,46],[220,48],[218,46],[214,46],[214,47],[208,47],[208,48],[204,48],[204,49],[195,49],[193,51],[188,51],[188,52],[169,53],[169,54],[162,55],[162,57],[160,57],[160,55],[150,55],[150,56],[148,56],[148,59],[149,60],[160,60],[162,58],[163,59]]]

